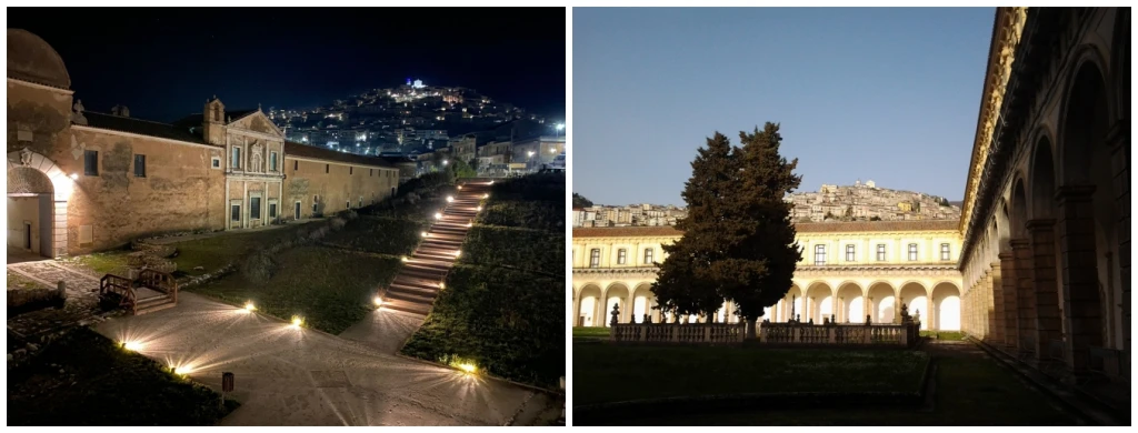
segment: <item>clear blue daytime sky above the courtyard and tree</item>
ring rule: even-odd
[[[782,124],[799,191],[960,200],[993,8],[574,8],[574,192],[681,205],[716,131]]]

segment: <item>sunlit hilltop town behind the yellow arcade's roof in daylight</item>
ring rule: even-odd
[[[798,223],[851,220],[959,219],[960,207],[947,198],[921,192],[877,188],[873,181],[852,185],[823,184],[817,192],[786,195]],[[684,208],[658,205],[593,205],[574,194],[574,227],[675,225],[687,216]]]

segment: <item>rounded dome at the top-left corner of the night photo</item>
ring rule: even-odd
[[[59,53],[40,36],[22,28],[8,28],[8,77],[71,88],[71,76]]]

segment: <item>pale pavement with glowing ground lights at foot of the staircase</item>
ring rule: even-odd
[[[505,425],[546,419],[554,408],[560,415],[544,393],[292,328],[193,293],[181,293],[175,308],[94,328],[141,343],[141,353],[188,368],[215,390],[222,373],[232,372],[229,397],[241,407],[222,425]]]

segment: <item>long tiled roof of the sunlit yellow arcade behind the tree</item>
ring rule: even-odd
[[[959,222],[938,220],[881,220],[853,223],[798,223],[799,233],[849,233],[849,232],[908,232],[908,231],[955,231]],[[624,236],[678,236],[682,232],[673,226],[635,227],[577,227],[574,238],[624,238]]]

